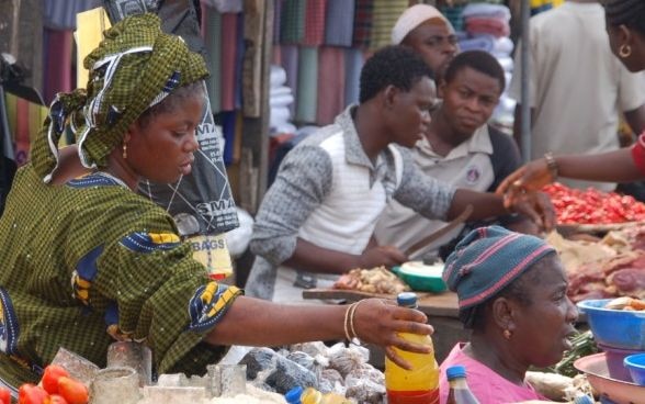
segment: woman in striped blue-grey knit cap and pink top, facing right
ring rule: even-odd
[[[445,369],[453,364],[466,367],[482,404],[545,400],[524,380],[527,370],[559,361],[578,317],[556,251],[534,236],[482,227],[448,258],[443,279],[473,334],[441,364],[441,403],[450,390]]]

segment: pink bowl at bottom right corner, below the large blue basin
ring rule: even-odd
[[[587,375],[589,384],[601,399],[615,404],[645,404],[645,386],[611,379],[604,352],[580,358],[574,367]]]

